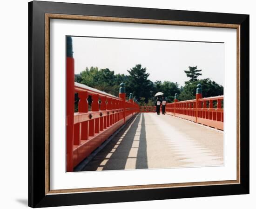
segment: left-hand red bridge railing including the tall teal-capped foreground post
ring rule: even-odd
[[[67,171],[73,171],[129,118],[139,112],[139,105],[126,100],[124,84],[119,97],[74,82],[72,38],[67,36],[66,59],[66,147]],[[78,93],[78,112],[74,112],[74,95]],[[88,98],[92,100],[89,108]]]

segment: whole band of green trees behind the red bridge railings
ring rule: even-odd
[[[105,91],[112,95],[118,96],[120,83],[126,84],[127,97],[129,93],[138,99],[139,104],[143,106],[155,105],[155,93],[161,91],[168,102],[174,101],[175,93],[178,93],[180,101],[195,98],[197,84],[202,85],[202,97],[213,97],[223,95],[223,86],[210,80],[209,78],[198,80],[197,77],[202,75],[202,70],[197,70],[197,66],[190,67],[189,71],[185,71],[189,81],[179,88],[177,82],[171,81],[155,81],[154,83],[148,79],[146,67],[142,68],[140,64],[128,70],[128,75],[115,74],[108,68],[99,69],[98,67],[86,68],[80,73],[80,77],[76,77],[76,82],[88,85],[90,87]],[[88,98],[90,99],[90,98]]]

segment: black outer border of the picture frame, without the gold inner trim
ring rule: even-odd
[[[240,25],[240,184],[45,195],[45,13]],[[60,2],[28,3],[28,206],[249,194],[249,15]]]

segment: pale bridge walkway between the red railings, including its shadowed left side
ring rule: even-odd
[[[139,113],[83,171],[220,165],[223,131],[170,115]]]

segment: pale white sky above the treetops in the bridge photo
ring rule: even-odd
[[[202,69],[198,79],[210,78],[224,85],[223,43],[73,37],[73,51],[76,74],[97,66],[128,75],[127,70],[141,64],[153,82],[184,85],[189,80],[184,70],[197,65]]]

